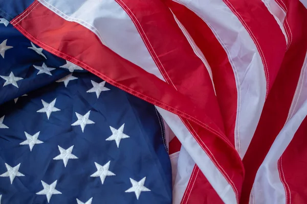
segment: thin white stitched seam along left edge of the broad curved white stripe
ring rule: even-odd
[[[227,46],[223,42],[222,38],[220,37],[220,35],[217,34],[215,29],[212,27],[212,25],[207,20],[205,20],[197,11],[194,11],[188,5],[184,4],[183,2],[180,2],[179,0],[172,0],[172,1],[177,2],[178,4],[184,5],[186,8],[188,8],[189,10],[193,11],[196,15],[198,15],[205,23],[207,23],[208,26],[210,27],[210,29],[212,30],[212,32],[214,33],[214,35],[216,36],[216,38],[219,39],[218,41],[221,42],[221,44],[223,44],[223,47],[226,49],[227,57],[230,56],[229,49],[227,48]],[[230,57],[228,59],[229,59],[231,65],[232,65],[231,67],[233,68],[234,75],[236,75],[235,82],[236,82],[236,85],[238,86],[238,92],[239,92],[239,97],[238,97],[238,103],[239,103],[238,104],[238,113],[240,113],[240,111],[241,111],[241,98],[242,98],[241,85],[240,85],[240,83],[238,81],[239,76],[238,76],[237,68],[236,68],[233,60]],[[237,128],[235,129],[235,132],[237,131],[237,137],[235,135],[236,133],[234,133],[234,141],[235,141],[235,149],[238,151],[238,153],[240,155],[241,145],[240,145],[239,126],[240,126],[240,114],[237,114]],[[238,146],[238,148],[237,148],[237,146]]]

